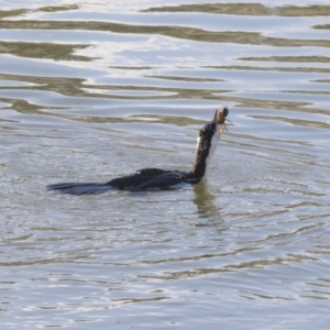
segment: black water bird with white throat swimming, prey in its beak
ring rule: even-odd
[[[216,110],[213,119],[208,122],[197,138],[197,150],[194,167],[190,172],[143,168],[136,173],[114,178],[106,184],[97,183],[63,183],[47,186],[48,190],[61,194],[84,195],[102,194],[109,190],[145,191],[153,189],[174,189],[182,184],[196,185],[205,176],[207,166],[213,155],[224,121],[229,113],[227,108]],[[221,129],[221,130],[220,130]]]

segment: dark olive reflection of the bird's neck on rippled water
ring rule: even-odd
[[[199,218],[219,218],[220,208],[216,205],[216,198],[208,190],[207,180],[201,180],[198,185],[193,185]]]

